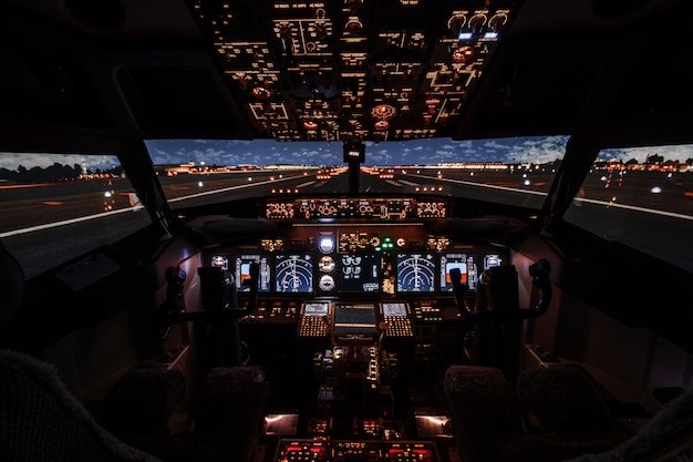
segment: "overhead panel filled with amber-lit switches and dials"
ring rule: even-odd
[[[452,135],[514,3],[194,0],[190,7],[257,136],[395,141]]]

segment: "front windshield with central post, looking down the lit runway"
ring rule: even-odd
[[[439,194],[540,208],[568,136],[365,142],[358,185],[344,145],[273,140],[149,140],[172,207],[221,202],[228,192]]]

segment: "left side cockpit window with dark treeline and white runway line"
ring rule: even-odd
[[[28,278],[151,223],[114,155],[0,153],[0,209]]]

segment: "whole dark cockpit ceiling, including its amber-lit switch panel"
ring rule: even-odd
[[[3,7],[0,59],[11,72],[0,119],[10,135],[33,122],[137,138],[589,133],[608,144],[656,135],[658,117],[691,141],[693,7],[683,0],[107,0],[111,13],[100,8],[90,0]]]

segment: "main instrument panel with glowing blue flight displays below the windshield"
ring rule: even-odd
[[[247,245],[217,247],[205,265],[234,276],[240,291],[252,263],[260,295],[394,297],[452,295],[449,270],[474,291],[478,275],[509,260],[498,247],[451,240],[424,223],[303,223]]]

